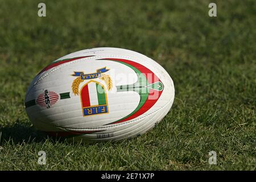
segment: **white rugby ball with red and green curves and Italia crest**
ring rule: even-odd
[[[53,61],[31,82],[26,112],[56,137],[137,137],[171,109],[174,83],[154,60],[121,48],[85,49]]]

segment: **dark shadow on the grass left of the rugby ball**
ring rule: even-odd
[[[23,123],[15,123],[13,126],[7,127],[0,126],[0,144],[8,141],[15,144],[22,142],[43,142],[46,138],[46,134]]]

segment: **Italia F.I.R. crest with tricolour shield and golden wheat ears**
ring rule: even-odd
[[[72,84],[72,92],[75,96],[80,95],[82,114],[84,117],[94,114],[109,113],[107,90],[113,87],[112,79],[109,75],[104,74],[109,69],[97,69],[95,73],[85,74],[84,72],[74,72],[72,76],[77,77]],[[92,79],[99,78],[104,81],[106,88],[103,84]],[[89,80],[79,90],[79,86],[85,80]]]

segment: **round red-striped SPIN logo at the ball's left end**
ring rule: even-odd
[[[42,107],[46,107],[47,109],[51,108],[52,105],[56,104],[59,100],[59,95],[55,92],[44,90],[42,94],[40,94],[36,98],[36,104]]]

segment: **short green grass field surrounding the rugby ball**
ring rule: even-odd
[[[0,170],[255,170],[256,2],[214,1],[209,17],[210,2],[0,0]],[[147,134],[79,144],[32,127],[24,109],[32,78],[93,47],[143,53],[170,73],[174,104]]]

